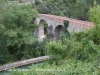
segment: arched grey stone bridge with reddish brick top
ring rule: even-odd
[[[35,22],[40,24],[40,27],[38,27],[34,32],[34,35],[37,36],[39,40],[42,40],[46,35],[52,35],[55,39],[59,38],[61,28],[64,26],[64,20],[69,21],[69,26],[66,28],[69,33],[91,29],[94,26],[92,22],[71,19],[67,17],[50,14],[39,14],[39,16],[40,17],[36,18]],[[44,34],[44,23],[46,23],[48,26],[47,34]]]

